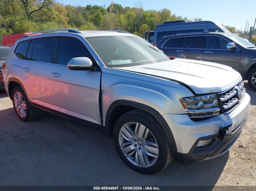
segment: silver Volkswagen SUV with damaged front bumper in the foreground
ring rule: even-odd
[[[38,33],[2,66],[17,116],[31,121],[41,109],[99,129],[140,173],[217,157],[247,122],[250,96],[228,66],[170,59],[124,31]]]

